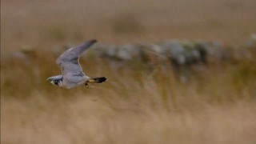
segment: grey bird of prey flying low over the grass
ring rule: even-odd
[[[54,86],[71,89],[77,86],[85,85],[89,87],[90,83],[102,83],[107,80],[106,77],[90,78],[82,71],[79,63],[79,56],[84,50],[87,50],[97,40],[90,40],[79,46],[74,46],[66,50],[58,57],[56,63],[61,68],[62,74],[47,78],[47,81]]]

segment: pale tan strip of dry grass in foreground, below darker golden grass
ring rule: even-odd
[[[73,96],[51,100],[35,93],[26,102],[3,99],[1,143],[255,142],[254,103],[204,103],[197,110],[168,112],[162,106],[143,106],[142,101],[134,106],[111,98],[118,107],[114,109],[98,94]]]

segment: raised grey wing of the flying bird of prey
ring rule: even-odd
[[[82,68],[79,64],[79,56],[95,42],[97,40],[90,40],[82,45],[72,47],[58,57],[56,63],[61,68],[63,76],[66,74],[83,75]]]

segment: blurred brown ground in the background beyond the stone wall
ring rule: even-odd
[[[50,49],[89,38],[103,43],[188,38],[235,45],[256,32],[255,7],[254,0],[3,0],[1,46],[4,52],[21,46]]]

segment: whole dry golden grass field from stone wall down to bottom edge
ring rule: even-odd
[[[57,55],[46,54],[36,52],[28,63],[2,62],[1,143],[256,140],[256,70],[247,61],[222,69],[210,66],[184,84],[170,67],[162,69],[158,58],[151,58],[152,72],[138,62],[113,70],[106,61],[86,58],[81,60],[87,74],[109,81],[63,90],[46,82],[59,73]]]

